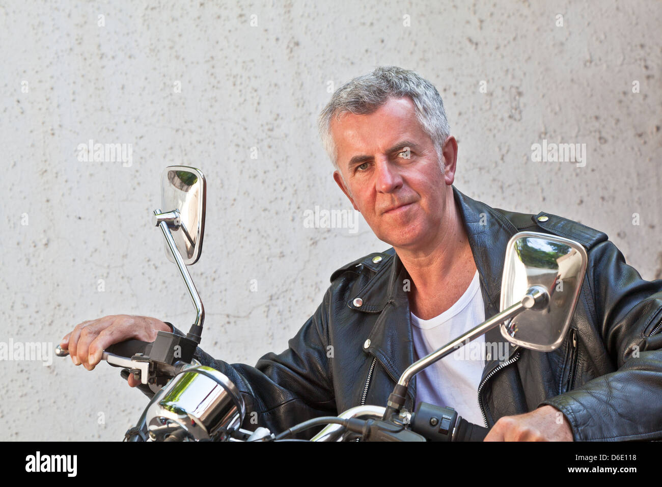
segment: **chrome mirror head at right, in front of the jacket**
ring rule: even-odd
[[[505,339],[526,349],[556,349],[570,326],[587,266],[581,244],[545,233],[521,232],[506,249],[501,303],[503,311],[520,302],[531,288],[547,293],[542,309],[524,309],[500,325]]]

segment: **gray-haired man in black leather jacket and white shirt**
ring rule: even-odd
[[[258,425],[283,431],[359,404],[385,405],[414,360],[498,312],[506,243],[528,230],[573,239],[589,254],[561,347],[509,347],[495,330],[484,342],[505,356],[440,360],[412,381],[404,407],[421,400],[455,407],[489,425],[493,441],[662,437],[661,281],[641,280],[604,233],[545,213],[493,209],[453,188],[457,142],[438,91],[414,72],[383,67],[350,81],[322,111],[320,133],[334,180],[393,248],[334,272],[285,352],[252,367],[197,350],[242,392],[246,427],[256,427],[252,412]],[[77,325],[62,346],[91,370],[112,343],[153,341],[158,330],[170,327],[105,317]]]

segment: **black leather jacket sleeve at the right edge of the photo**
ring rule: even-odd
[[[589,252],[586,280],[594,323],[617,370],[542,404],[567,417],[575,441],[659,439],[662,280],[641,279],[609,241]]]

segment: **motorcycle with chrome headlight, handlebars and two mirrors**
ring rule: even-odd
[[[196,317],[185,337],[159,331],[152,343],[127,340],[103,352],[102,360],[140,381],[150,398],[126,441],[292,441],[292,436],[323,428],[310,441],[482,441],[489,429],[467,422],[451,407],[420,402],[402,409],[408,384],[419,372],[495,327],[510,343],[553,351],[567,333],[587,266],[581,244],[535,232],[520,232],[506,247],[500,312],[411,364],[385,406],[356,406],[337,417],[317,417],[281,433],[265,427],[242,429],[246,406],[224,374],[194,358],[205,309],[187,266],[200,257],[205,230],[207,182],[201,170],[169,166],[162,175],[162,208],[152,223],[165,240],[166,256],[177,265]],[[58,345],[56,355],[68,351]]]

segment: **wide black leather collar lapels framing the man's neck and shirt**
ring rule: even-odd
[[[455,203],[463,218],[469,237],[469,245],[480,276],[485,317],[498,312],[501,277],[503,273],[506,244],[517,233],[517,228],[495,209],[463,195],[453,186]],[[348,306],[357,311],[381,313],[371,329],[364,349],[375,355],[387,372],[397,382],[404,369],[414,362],[414,345],[410,325],[410,309],[406,292],[409,278],[402,261],[393,247],[384,252],[383,266],[359,292]],[[362,304],[356,307],[355,298]],[[502,341],[498,329],[488,333],[486,341]],[[488,361],[483,376],[493,366],[495,360]],[[415,397],[415,382],[410,385],[410,400]]]

